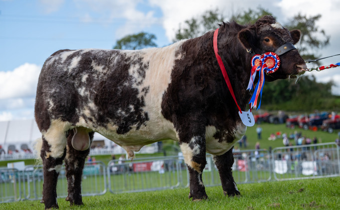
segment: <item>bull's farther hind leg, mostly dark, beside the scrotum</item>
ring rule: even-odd
[[[76,130],[78,129],[78,130]],[[74,135],[77,132],[77,135]],[[86,133],[85,133],[86,132]],[[86,135],[85,135],[86,134]],[[84,129],[75,128],[70,130],[69,135],[67,137],[67,154],[65,157],[65,168],[66,168],[66,177],[68,182],[68,196],[66,200],[70,201],[70,205],[82,205],[82,190],[81,190],[81,181],[83,168],[86,161],[86,157],[90,152],[90,144],[93,139],[94,132],[88,132]],[[84,138],[81,141],[87,142],[90,140],[88,146],[83,147],[85,150],[76,150],[73,145],[75,145],[75,138]],[[77,147],[77,146],[76,146]]]

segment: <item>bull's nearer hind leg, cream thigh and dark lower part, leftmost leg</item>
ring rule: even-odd
[[[44,185],[43,199],[45,208],[58,208],[57,181],[66,155],[66,131],[69,124],[61,120],[52,121],[50,128],[43,134],[40,156],[43,160]]]

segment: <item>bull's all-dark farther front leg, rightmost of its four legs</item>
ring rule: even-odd
[[[240,195],[232,176],[231,167],[234,164],[232,148],[222,155],[215,155],[213,159],[220,175],[224,195]]]

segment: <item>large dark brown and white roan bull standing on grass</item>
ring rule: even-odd
[[[83,204],[82,170],[94,132],[122,146],[130,158],[146,144],[179,141],[193,200],[208,197],[202,171],[206,152],[213,154],[224,194],[240,194],[231,171],[231,148],[246,126],[217,63],[213,34],[136,51],[60,50],[46,60],[35,104],[42,133],[37,148],[44,167],[45,208],[58,208],[56,185],[63,160],[66,200]],[[275,52],[299,38],[298,30],[288,31],[271,16],[254,25],[220,25],[218,54],[241,109],[251,96],[246,91],[252,59],[248,52]],[[295,48],[280,55],[280,61],[276,72],[265,75],[266,81],[299,75],[306,68]]]

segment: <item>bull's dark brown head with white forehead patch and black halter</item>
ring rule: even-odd
[[[300,31],[288,31],[281,24],[276,22],[272,16],[264,16],[254,25],[241,30],[238,39],[248,52],[263,54],[266,52],[275,52],[280,46],[293,44],[295,45],[300,39]],[[266,75],[266,81],[276,79],[285,79],[287,77],[303,74],[306,64],[296,49],[284,52],[279,55],[281,64],[277,71]]]

